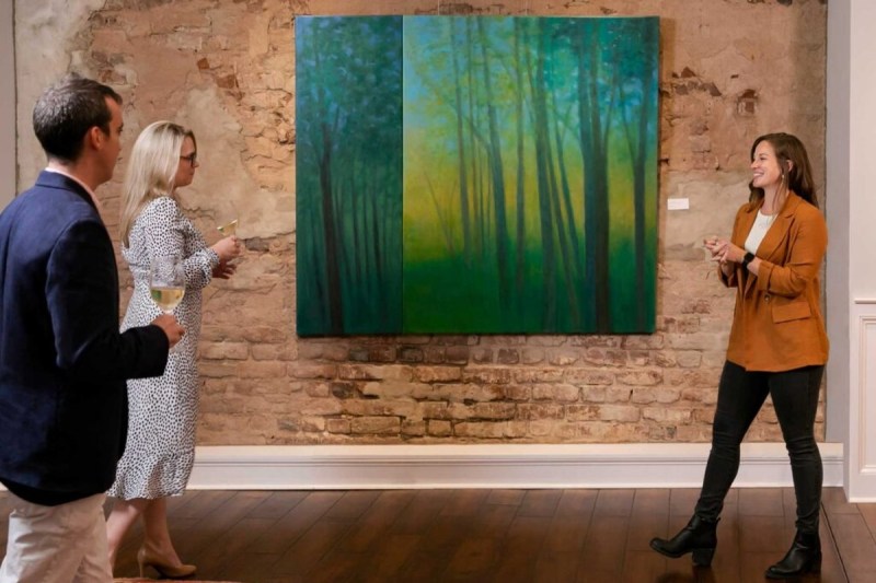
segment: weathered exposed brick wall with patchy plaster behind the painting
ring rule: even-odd
[[[39,62],[28,28],[57,25],[35,10],[16,1],[22,77]],[[241,219],[239,273],[205,294],[203,444],[707,441],[733,294],[700,241],[729,231],[760,133],[800,136],[823,184],[823,0],[106,0],[87,12],[72,34],[57,25],[72,59],[56,67],[119,89],[127,148],[155,119],[193,127],[203,165],[187,212],[209,241]],[[661,16],[656,334],[296,336],[293,16],[393,13]],[[20,133],[33,148],[24,123]],[[38,164],[22,162],[23,182]],[[101,189],[112,232],[123,175],[124,161]],[[667,212],[668,197],[691,210]],[[781,440],[770,408],[749,439]]]

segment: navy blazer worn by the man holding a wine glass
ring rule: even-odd
[[[125,381],[161,375],[168,360],[161,328],[119,333],[118,315],[115,254],[94,202],[43,172],[0,213],[0,480],[60,498],[113,483]]]

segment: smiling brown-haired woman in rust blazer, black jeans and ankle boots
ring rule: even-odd
[[[721,280],[736,288],[736,310],[703,488],[688,525],[650,546],[668,557],[692,552],[695,564],[712,563],[718,516],[739,469],[739,445],[770,395],[791,457],[797,534],[766,576],[788,579],[821,564],[822,469],[814,428],[828,359],[818,278],[828,236],[797,138],[770,133],[754,140],[751,170],[751,196],[736,213],[733,236],[704,242]]]

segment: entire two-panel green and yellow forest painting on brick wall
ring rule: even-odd
[[[654,330],[656,18],[296,22],[299,335]]]

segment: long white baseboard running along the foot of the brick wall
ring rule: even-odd
[[[819,444],[825,486],[843,485],[841,443]],[[204,446],[189,489],[699,488],[710,445]],[[783,443],[746,443],[737,488],[792,486]]]

